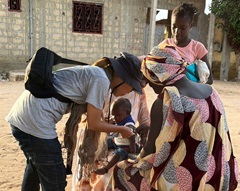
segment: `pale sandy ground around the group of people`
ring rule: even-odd
[[[235,156],[240,161],[240,82],[214,81],[213,85],[221,95],[225,106],[228,125],[233,143]],[[9,124],[4,120],[9,109],[24,90],[23,82],[0,82],[0,190],[19,191],[25,167],[25,158],[18,147],[17,142],[11,135]],[[148,86],[147,101],[149,108],[155,100],[156,95]],[[62,128],[67,119],[67,115],[57,124],[59,139],[62,140]],[[71,190],[71,177],[67,178],[66,190]],[[238,186],[240,191],[240,185]]]

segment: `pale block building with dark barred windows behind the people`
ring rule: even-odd
[[[182,2],[158,0],[157,8],[171,11]],[[205,1],[191,2],[200,10],[193,37],[206,45]],[[146,54],[150,8],[151,0],[0,0],[0,72],[25,68],[42,46],[87,63],[121,51]],[[169,19],[157,23],[154,44]]]

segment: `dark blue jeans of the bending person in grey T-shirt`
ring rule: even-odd
[[[26,156],[22,191],[64,191],[67,185],[61,144],[58,139],[41,139],[11,125],[12,134]]]

